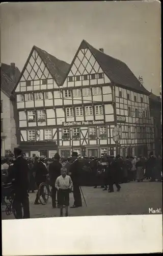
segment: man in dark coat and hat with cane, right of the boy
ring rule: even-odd
[[[76,208],[82,206],[82,198],[80,194],[80,163],[77,159],[77,152],[72,152],[72,160],[73,163],[69,169],[69,175],[71,176],[72,183],[73,183],[73,197],[74,197],[74,204],[71,208]]]

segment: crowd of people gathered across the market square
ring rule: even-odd
[[[26,158],[20,148],[15,148],[13,158],[3,158],[1,161],[2,182],[15,180],[14,207],[18,219],[30,218],[29,193],[35,193],[39,185],[46,182],[47,176],[51,186],[52,207],[60,208],[60,216],[63,216],[63,205],[66,206],[68,216],[69,193],[72,186],[72,208],[76,208],[82,207],[80,185],[94,188],[101,186],[103,190],[108,190],[108,193],[113,193],[114,184],[117,191],[120,191],[122,183],[142,182],[144,179],[148,179],[149,182],[162,181],[162,159],[160,156],[155,157],[153,152],[148,158],[127,156],[124,159],[120,155],[114,157],[105,154],[101,155],[101,158],[88,158],[79,157],[73,152],[70,158],[60,158],[56,153],[53,159],[47,159],[45,156]],[[39,204],[38,192],[34,203]]]

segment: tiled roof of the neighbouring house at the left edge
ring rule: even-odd
[[[15,67],[15,81],[10,77],[10,65],[1,63],[1,90],[10,97],[15,83],[18,81],[20,71]]]

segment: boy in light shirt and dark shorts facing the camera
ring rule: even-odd
[[[66,207],[66,217],[68,216],[69,193],[72,187],[72,180],[69,175],[66,175],[67,169],[61,168],[61,175],[57,178],[55,187],[59,190],[60,199],[60,217],[63,217],[63,206]]]

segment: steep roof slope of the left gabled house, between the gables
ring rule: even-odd
[[[65,75],[67,74],[67,71],[70,67],[70,65],[55,56],[52,56],[48,52],[34,46],[34,48],[37,50],[39,53],[40,57],[45,63],[45,66],[51,73],[52,77],[55,79],[57,82],[58,86],[60,86],[65,78]]]

